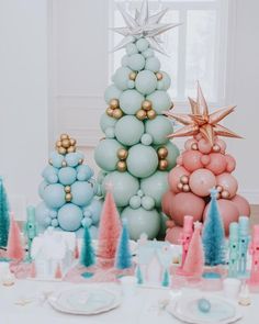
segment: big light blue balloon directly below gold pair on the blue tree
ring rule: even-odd
[[[82,210],[74,203],[66,203],[59,209],[57,219],[64,231],[75,232],[81,226]]]

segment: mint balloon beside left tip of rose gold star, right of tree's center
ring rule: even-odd
[[[147,120],[145,127],[146,133],[151,135],[155,145],[167,143],[167,135],[173,132],[172,123],[164,115],[158,115],[154,120]]]

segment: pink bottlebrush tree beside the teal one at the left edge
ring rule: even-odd
[[[13,214],[11,214],[7,255],[10,259],[14,260],[22,260],[24,258],[24,249],[21,242],[21,231],[18,226],[18,223],[14,221]]]

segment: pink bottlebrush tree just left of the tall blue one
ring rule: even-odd
[[[201,277],[204,267],[204,253],[201,239],[201,223],[194,223],[194,232],[188,249],[188,255],[183,266],[183,275]]]

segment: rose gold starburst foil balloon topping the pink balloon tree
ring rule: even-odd
[[[225,116],[227,116],[235,110],[235,105],[221,108],[210,114],[207,103],[202,93],[202,89],[199,82],[196,101],[191,98],[189,98],[189,101],[192,110],[191,114],[180,114],[170,111],[165,112],[167,116],[169,116],[170,119],[174,119],[184,125],[184,127],[182,127],[181,130],[168,135],[169,138],[194,136],[201,133],[203,137],[210,142],[211,146],[213,146],[215,136],[217,135],[241,138],[241,136],[218,124],[219,121],[222,121]]]

